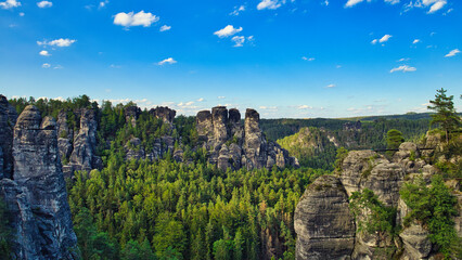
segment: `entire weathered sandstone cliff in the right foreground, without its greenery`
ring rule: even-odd
[[[350,234],[345,233],[345,230],[337,225],[338,222],[345,222],[348,197],[354,192],[362,192],[364,188],[377,195],[378,200],[385,206],[397,208],[396,221],[398,224],[402,223],[409,212],[399,195],[405,177],[413,179],[422,176],[424,180],[429,181],[436,171],[433,166],[426,165],[419,157],[420,155],[416,145],[412,143],[402,143],[392,160],[372,151],[349,152],[337,176],[320,177],[308,186],[297,205],[295,211],[295,231],[298,236],[296,259],[318,259],[318,256],[321,256],[319,259],[389,259],[395,253],[394,244],[398,238],[394,242],[386,234],[369,234],[352,227],[352,247],[350,244],[333,243],[330,239],[336,237],[335,234]],[[345,193],[345,200],[339,199],[341,191]],[[332,198],[333,194],[335,199]],[[342,205],[341,208],[334,208],[339,205]],[[323,213],[319,213],[320,210],[326,210],[331,216],[322,218]],[[316,218],[316,212],[321,214],[320,220]],[[370,209],[363,208],[355,221],[363,221],[370,212]],[[324,222],[320,224],[319,221]],[[358,223],[356,222],[356,226]],[[319,226],[328,227],[320,230]],[[427,235],[428,232],[418,223],[403,229],[398,239],[398,244],[402,246],[397,249],[401,250],[400,259],[427,259],[432,251],[432,243]],[[333,244],[337,247],[334,248]],[[326,255],[329,252],[325,252],[326,248],[334,251],[331,252],[334,256],[322,258],[322,256],[329,256]]]

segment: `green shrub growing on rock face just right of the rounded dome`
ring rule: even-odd
[[[369,188],[354,192],[349,199],[360,232],[377,233],[381,237],[396,234],[396,208],[386,207]]]

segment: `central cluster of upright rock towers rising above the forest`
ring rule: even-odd
[[[224,106],[217,106],[211,108],[211,113],[197,113],[196,130],[201,145],[209,153],[208,161],[221,170],[298,166],[287,151],[277,143],[267,142],[259,120],[259,114],[254,109],[246,110],[244,126],[241,113],[234,108],[228,110]]]

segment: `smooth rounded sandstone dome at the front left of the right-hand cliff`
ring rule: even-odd
[[[348,195],[333,176],[318,178],[295,209],[296,259],[350,259],[355,220]]]

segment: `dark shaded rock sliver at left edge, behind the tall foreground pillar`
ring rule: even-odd
[[[0,95],[0,179],[13,174],[13,128],[16,123],[16,110],[4,95]]]

